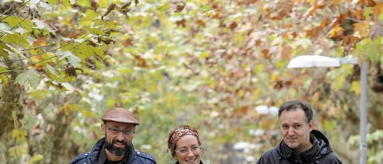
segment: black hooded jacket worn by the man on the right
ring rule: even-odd
[[[312,130],[310,141],[313,146],[297,154],[282,140],[277,146],[262,154],[257,164],[342,164],[332,152],[329,140],[320,131]]]

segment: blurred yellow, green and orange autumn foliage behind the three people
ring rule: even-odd
[[[291,99],[310,102],[316,129],[344,163],[357,163],[360,68],[286,69],[304,54],[368,61],[368,161],[382,162],[382,1],[0,6],[0,163],[68,163],[102,137],[112,107],[139,118],[135,148],[160,164],[175,162],[167,135],[181,124],[200,132],[206,163],[252,163],[281,139],[264,110]],[[239,142],[246,148],[234,150]]]

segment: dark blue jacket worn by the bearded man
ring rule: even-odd
[[[105,138],[98,141],[95,146],[93,146],[92,151],[88,153],[82,153],[72,159],[70,164],[97,164],[98,163],[98,154],[105,143]],[[133,145],[132,145],[133,146]],[[126,158],[124,164],[157,164],[155,158],[147,153],[142,151],[135,150],[134,147],[132,149],[133,154],[131,157]]]

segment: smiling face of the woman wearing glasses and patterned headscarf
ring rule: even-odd
[[[183,149],[189,149],[186,154],[176,152],[174,158],[178,160],[180,164],[200,164],[201,161],[201,149],[197,151],[191,151],[191,148],[195,148],[198,145],[197,138],[193,135],[185,135],[178,139],[175,144],[175,149],[177,151]]]

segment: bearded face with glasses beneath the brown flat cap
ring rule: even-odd
[[[134,125],[111,121],[106,124],[101,123],[101,131],[105,135],[105,148],[115,156],[123,156],[131,149],[133,133],[124,135],[119,131],[115,134],[113,130],[134,131]]]

